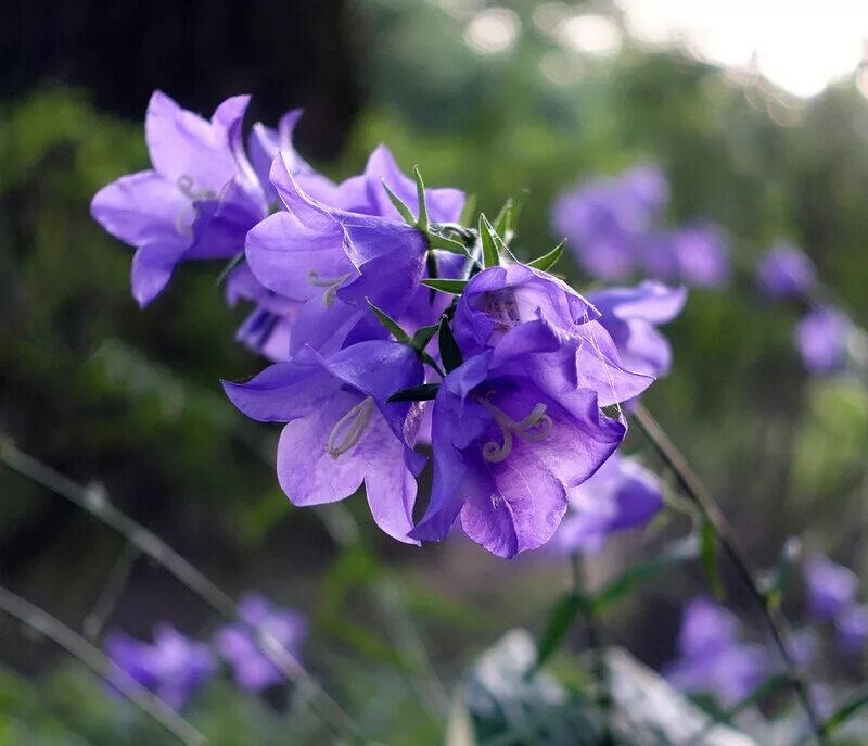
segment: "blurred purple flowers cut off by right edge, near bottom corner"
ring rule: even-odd
[[[856,600],[858,586],[855,572],[827,557],[814,557],[805,566],[808,614],[834,625],[845,653],[859,650],[868,642],[868,605]]]

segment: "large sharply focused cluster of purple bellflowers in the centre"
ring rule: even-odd
[[[278,481],[295,505],[363,485],[374,521],[406,543],[457,522],[501,557],[548,542],[624,439],[620,404],[667,370],[655,325],[684,291],[644,283],[591,302],[546,271],[560,248],[515,260],[511,201],[494,226],[460,225],[463,193],[425,188],[383,146],[334,182],[295,151],[298,111],[245,142],[246,104],[230,99],[208,122],[154,93],[153,168],[93,199],[94,217],[137,249],[136,298],[153,300],[182,262],[229,262],[227,299],[255,304],[238,338],[273,364],[225,390],[245,415],[283,423]],[[647,230],[665,179],[639,169],[623,191],[635,214],[618,219]],[[434,479],[417,520],[423,441]],[[625,521],[638,519],[610,528]],[[238,635],[226,637],[240,660]]]

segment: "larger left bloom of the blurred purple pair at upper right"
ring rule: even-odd
[[[660,168],[640,165],[565,191],[552,207],[552,225],[591,276],[625,279],[639,267],[642,241],[667,201]]]

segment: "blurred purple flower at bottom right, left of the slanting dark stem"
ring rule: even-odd
[[[736,617],[707,598],[685,608],[678,658],[664,674],[682,692],[716,696],[725,706],[750,694],[768,668],[763,648],[741,641]]]

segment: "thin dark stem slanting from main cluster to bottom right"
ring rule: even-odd
[[[799,698],[802,708],[807,716],[810,728],[814,732],[818,744],[828,744],[828,738],[822,730],[822,720],[819,717],[814,704],[810,700],[807,685],[804,677],[802,675],[799,666],[790,652],[787,643],[787,619],[781,614],[780,609],[776,606],[769,605],[766,595],[760,587],[756,574],[751,567],[746,554],[739,545],[736,534],[732,531],[729,522],[724,517],[717,503],[712,497],[707,488],[699,479],[695,472],[690,468],[687,459],[681,455],[678,448],[673,443],[672,439],[666,434],[666,431],[660,426],[648,409],[643,405],[637,404],[633,412],[633,417],[648,440],[654,446],[660,457],[672,470],[678,480],[681,490],[685,494],[692,500],[700,508],[704,517],[714,528],[720,546],[729,557],[732,566],[738,571],[744,584],[748,587],[751,596],[760,606],[763,618],[768,625],[775,645],[780,653],[783,666],[787,669],[787,674],[790,679],[791,686],[796,697]]]

